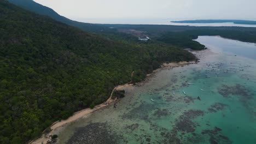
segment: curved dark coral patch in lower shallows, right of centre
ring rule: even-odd
[[[189,110],[183,113],[176,121],[176,128],[179,131],[191,133],[195,131],[196,124],[192,121],[198,116],[203,116],[204,112],[201,110]]]

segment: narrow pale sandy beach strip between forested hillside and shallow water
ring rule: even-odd
[[[196,62],[170,62],[170,63],[163,63],[162,67],[159,68],[159,69],[154,70],[153,73],[155,73],[158,70],[161,70],[164,67],[179,67],[179,66],[182,66],[182,65],[194,64],[194,63],[196,63]],[[148,74],[147,77],[149,77],[152,74]],[[60,128],[65,127],[65,125],[67,125],[69,123],[72,123],[72,122],[76,121],[79,118],[87,116],[87,115],[89,115],[90,113],[92,113],[94,111],[102,109],[103,107],[105,107],[105,106],[109,105],[110,103],[112,103],[114,101],[112,99],[112,94],[113,94],[113,92],[115,90],[121,90],[121,89],[124,89],[124,88],[127,88],[127,87],[131,88],[132,86],[133,86],[132,84],[125,83],[124,85],[119,85],[119,86],[115,87],[113,89],[112,93],[110,94],[110,97],[108,98],[108,100],[106,102],[104,102],[104,103],[102,103],[100,105],[95,106],[94,109],[88,108],[88,109],[84,109],[84,110],[75,112],[73,114],[73,116],[69,117],[68,119],[62,120],[62,121],[57,121],[57,122],[53,123],[50,126],[51,131],[49,133],[43,134],[39,139],[31,141],[30,144],[42,144],[42,143],[45,144],[45,143],[51,141],[50,136],[53,135]]]

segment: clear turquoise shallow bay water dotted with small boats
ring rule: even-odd
[[[256,143],[256,46],[197,41],[211,49],[196,53],[199,63],[165,67],[126,88],[117,109],[109,105],[63,127],[59,143]]]

